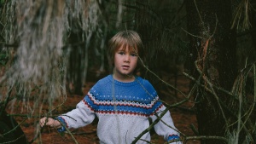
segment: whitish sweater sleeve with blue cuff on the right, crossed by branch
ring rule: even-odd
[[[160,114],[166,109],[166,107],[162,104],[160,108],[152,115],[153,122],[157,118],[160,117]],[[156,116],[157,114],[157,116]],[[154,125],[154,130],[158,135],[164,136],[166,141],[172,141],[175,139],[179,139],[179,133],[177,132],[176,127],[173,124],[171,113],[168,111],[166,114],[161,118],[161,120]],[[181,141],[172,142],[172,144],[182,144]]]

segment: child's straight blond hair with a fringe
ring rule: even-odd
[[[110,72],[113,70],[113,56],[117,49],[120,47],[126,48],[128,47],[130,51],[136,51],[139,56],[139,61],[143,62],[143,42],[141,37],[137,32],[131,30],[125,30],[116,33],[109,41],[108,41],[108,63]]]

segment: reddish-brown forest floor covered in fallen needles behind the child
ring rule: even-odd
[[[175,78],[173,75],[163,72],[162,78],[168,84],[175,84]],[[96,81],[87,82],[84,87],[84,94],[96,83]],[[177,89],[182,91],[185,95],[189,94],[189,78],[186,78],[183,75],[179,75],[177,77]],[[175,95],[174,90],[170,88],[163,88],[160,91],[160,99],[162,101],[166,101],[168,104],[174,104],[178,101],[184,99],[183,95],[177,94]],[[58,113],[64,113],[75,108],[76,104],[79,103],[84,98],[84,95],[67,95],[67,101],[64,103],[63,107],[58,110]],[[44,109],[44,108],[43,108]],[[47,108],[45,108],[47,109]],[[194,103],[187,101],[183,103],[183,105],[179,107],[175,107],[170,109],[172,113],[172,119],[174,121],[177,130],[179,130],[185,136],[195,136],[193,130],[191,130],[191,125],[195,126],[197,129],[197,121],[195,117],[195,107]],[[32,141],[35,133],[36,133],[36,125],[38,124],[39,118],[29,118],[25,122],[22,122],[21,129],[24,131],[26,135],[26,139],[28,141]],[[22,118],[16,118],[18,123],[21,123]],[[41,135],[37,137],[35,141],[32,143],[43,143],[43,144],[73,144],[73,143],[86,143],[86,144],[97,144],[99,140],[96,135],[96,121],[92,124],[89,124],[83,128],[79,128],[77,130],[71,130],[73,135],[69,135],[65,133],[61,135],[55,129],[44,127],[44,130],[41,130]],[[152,132],[151,142],[155,144],[165,143],[166,141],[157,134]],[[74,141],[75,140],[75,141]],[[200,141],[187,141],[187,144],[200,144]]]

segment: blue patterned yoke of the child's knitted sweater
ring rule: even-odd
[[[92,111],[131,114],[148,117],[162,106],[153,86],[137,77],[134,82],[121,83],[111,75],[103,78],[84,97],[84,104]]]

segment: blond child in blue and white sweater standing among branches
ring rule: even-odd
[[[118,32],[108,42],[108,58],[113,74],[99,80],[76,109],[57,117],[58,120],[42,118],[40,125],[64,131],[65,127],[83,127],[97,117],[100,143],[131,144],[148,128],[148,118],[154,121],[166,109],[148,80],[134,75],[137,62],[142,62],[142,51],[143,43],[137,32]],[[163,135],[166,141],[179,139],[170,112],[166,112],[161,120],[154,125],[156,133]],[[137,143],[146,141],[150,141],[149,133]]]

